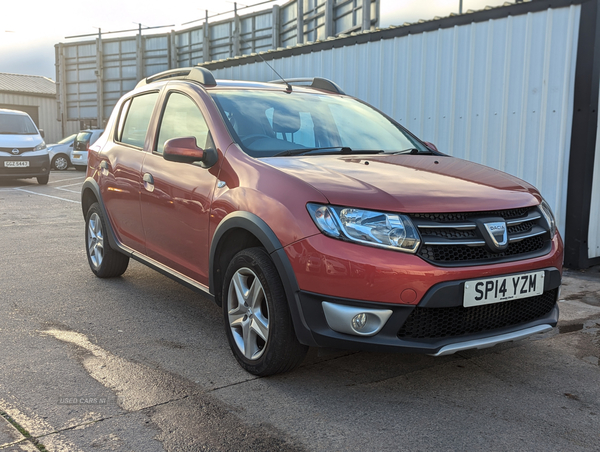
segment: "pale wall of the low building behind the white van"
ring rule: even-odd
[[[0,104],[38,107],[40,128],[44,129],[44,141],[50,144],[64,138],[61,123],[56,120],[56,99],[0,93]],[[67,135],[79,132],[79,121],[68,121],[67,131]]]

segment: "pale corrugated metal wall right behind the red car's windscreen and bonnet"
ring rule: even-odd
[[[538,187],[564,234],[580,6],[274,59],[321,76],[455,157]],[[276,78],[264,63],[217,78]]]

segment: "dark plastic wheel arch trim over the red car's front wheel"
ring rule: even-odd
[[[271,259],[273,259],[273,263],[275,264],[275,267],[279,272],[281,282],[283,283],[296,336],[302,344],[315,346],[317,343],[313,338],[310,328],[304,320],[304,314],[302,312],[302,306],[299,297],[300,288],[298,286],[298,281],[296,280],[296,275],[294,274],[292,264],[288,259],[285,250],[283,249],[283,245],[277,238],[277,235],[275,235],[269,225],[259,216],[245,211],[232,212],[223,218],[223,220],[221,220],[217,226],[217,229],[212,237],[209,255],[210,266],[208,280],[210,292],[215,294],[216,291],[216,275],[214,272],[214,264],[217,259],[217,248],[223,236],[232,229],[242,229],[251,233],[267,250],[267,253],[269,253]]]

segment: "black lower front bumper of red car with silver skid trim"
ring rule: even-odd
[[[491,347],[555,327],[561,275],[557,268],[544,271],[542,295],[475,307],[462,306],[464,280],[433,286],[418,305],[365,302],[303,291],[299,293],[299,300],[314,345],[445,355],[464,349]],[[323,303],[356,308],[355,312],[391,311],[391,315],[375,335],[347,334],[339,332],[340,328],[331,314],[328,317]]]

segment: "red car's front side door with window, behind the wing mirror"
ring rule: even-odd
[[[198,147],[215,144],[193,89],[180,86],[165,96],[152,153],[144,160],[141,195],[147,255],[208,285],[210,205],[218,165],[170,162],[163,148],[172,138],[195,137]]]

